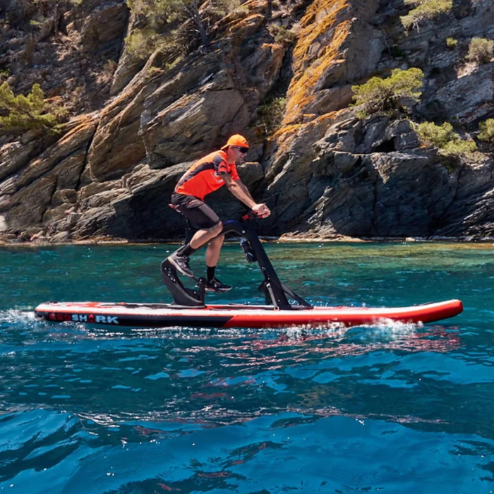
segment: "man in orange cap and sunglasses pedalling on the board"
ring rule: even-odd
[[[236,162],[243,159],[247,152],[246,138],[239,134],[232,135],[221,150],[212,152],[193,164],[183,174],[171,195],[171,204],[200,230],[195,232],[189,243],[171,254],[168,260],[182,275],[192,277],[193,272],[188,265],[189,256],[210,242],[206,250],[207,291],[228,291],[231,287],[215,277],[219,251],[224,240],[223,235],[219,236],[223,224],[217,214],[204,203],[205,195],[226,184],[228,190],[259,217],[270,215],[265,204],[258,204],[253,200],[237,174]]]

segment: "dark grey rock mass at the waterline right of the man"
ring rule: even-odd
[[[493,188],[491,161],[451,167],[435,150],[417,147],[408,121],[343,117],[315,143],[317,155],[299,171],[297,190],[291,167],[268,188],[268,200],[275,196],[279,203],[277,216],[292,230],[319,236],[474,235],[479,208],[482,234],[494,234],[494,209],[483,199]],[[287,193],[298,201],[285,210]]]

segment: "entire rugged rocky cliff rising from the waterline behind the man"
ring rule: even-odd
[[[87,113],[62,135],[0,131],[0,238],[181,236],[183,219],[168,207],[176,181],[232,133],[251,143],[241,178],[272,209],[259,222],[263,234],[494,236],[488,146],[475,159],[445,161],[421,147],[409,121],[359,120],[349,107],[352,85],[419,67],[426,78],[414,118],[452,121],[474,135],[494,116],[494,64],[465,55],[471,37],[494,39],[491,1],[457,1],[451,13],[405,33],[401,0],[248,0],[215,25],[209,51],[171,67],[157,52],[145,61],[128,52],[123,38],[137,20],[107,0],[53,14],[26,61],[35,12],[16,2],[0,6],[11,19],[0,26],[9,84],[27,92],[36,80],[47,96],[66,100],[82,88],[71,108]],[[293,46],[273,36],[275,25],[296,32]],[[457,48],[448,49],[446,37],[457,38]],[[105,59],[114,72],[102,67]],[[280,94],[281,127],[264,135],[258,109]],[[224,219],[242,210],[224,190],[208,202]]]

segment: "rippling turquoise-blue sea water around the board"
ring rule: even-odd
[[[49,300],[169,301],[171,248],[0,249],[0,493],[494,491],[494,246],[267,245],[313,303],[462,299],[462,315],[425,327],[34,319]],[[262,300],[238,246],[219,278],[235,287],[211,300]]]

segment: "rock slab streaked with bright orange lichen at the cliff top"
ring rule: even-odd
[[[338,0],[330,8],[319,0],[309,6],[294,49],[284,123],[298,123],[304,114],[318,116],[351,103],[351,83],[375,70],[385,47],[382,32],[368,23],[378,6],[378,0],[357,6]]]

